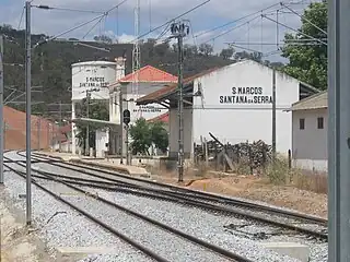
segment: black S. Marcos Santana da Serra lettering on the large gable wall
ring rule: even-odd
[[[232,87],[231,94],[219,96],[220,104],[272,104],[264,87]]]

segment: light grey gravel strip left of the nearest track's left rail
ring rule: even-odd
[[[7,156],[10,157],[10,154],[8,153]],[[16,158],[13,157],[12,159]],[[11,166],[13,165],[11,164]],[[12,171],[7,171],[4,172],[4,184],[7,191],[15,201],[15,206],[24,211],[25,200],[19,199],[19,194],[25,193],[25,179]],[[95,261],[152,261],[139,250],[106,233],[93,222],[35,186],[32,186],[32,203],[33,224],[38,229],[35,234],[45,240],[52,253],[58,247],[106,247],[113,248],[114,252],[101,254],[100,259]],[[109,259],[105,260],[106,258]]]

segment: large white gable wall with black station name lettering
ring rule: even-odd
[[[292,116],[283,110],[299,100],[299,81],[277,73],[277,151],[287,153],[292,146]],[[194,98],[192,140],[200,136],[211,140],[209,132],[223,143],[272,140],[272,70],[254,61],[242,61],[195,81],[194,92],[201,83],[203,108],[200,97]],[[233,94],[236,87],[236,94]],[[257,87],[258,94],[237,94],[240,87]],[[242,88],[240,88],[242,91]],[[224,102],[226,97],[226,103]],[[229,103],[246,98],[246,103]],[[264,99],[267,103],[264,103]],[[256,103],[254,103],[256,102]]]

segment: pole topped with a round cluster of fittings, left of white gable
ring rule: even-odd
[[[184,93],[183,93],[183,68],[184,68],[184,37],[189,34],[189,26],[184,22],[173,23],[171,32],[174,38],[177,38],[178,49],[178,157],[177,157],[177,170],[178,182],[184,181]]]

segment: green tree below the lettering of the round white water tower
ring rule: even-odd
[[[88,99],[84,98],[80,105],[78,117],[86,118],[88,112]],[[108,105],[104,100],[91,99],[89,106],[89,118],[98,119],[98,120],[109,120],[109,109]],[[78,134],[77,138],[79,140],[79,146],[83,147],[85,152],[85,142],[86,142],[86,129],[88,123],[77,123]],[[90,147],[95,147],[95,132],[98,129],[105,128],[104,124],[100,123],[89,123],[89,145]]]

